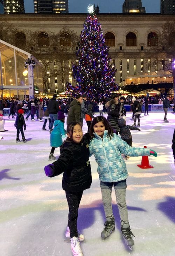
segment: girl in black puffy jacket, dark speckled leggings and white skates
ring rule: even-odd
[[[71,122],[67,127],[67,139],[63,142],[61,155],[53,164],[44,167],[48,177],[63,173],[62,187],[65,190],[69,206],[68,227],[65,236],[70,234],[73,256],[83,256],[80,247],[84,236],[78,234],[77,218],[83,191],[92,183],[91,166],[89,162],[89,134],[83,136],[82,126]]]

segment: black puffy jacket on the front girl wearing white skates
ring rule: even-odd
[[[89,134],[83,136],[77,144],[65,141],[61,155],[53,164],[55,172],[51,177],[63,173],[62,187],[65,191],[79,192],[90,188],[92,183],[91,165],[89,162]]]

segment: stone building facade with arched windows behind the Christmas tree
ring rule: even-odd
[[[71,50],[69,49],[70,59],[64,63],[68,68],[63,68],[64,76],[61,73],[55,75],[53,81],[50,82],[49,89],[44,88],[45,92],[53,93],[63,91],[67,82],[73,85],[76,84],[71,75],[71,61],[72,58],[75,59],[75,52],[78,50],[78,46],[77,43],[72,43],[71,40],[69,40],[69,35],[72,31],[78,36],[80,35],[86,17],[86,14],[1,14],[0,23],[8,21],[13,24],[19,32],[31,30],[37,31],[38,34],[44,33],[48,36],[48,40],[51,33],[60,33],[60,35],[66,34],[68,37],[67,43],[71,46]],[[156,63],[156,60],[155,62],[152,61],[153,49],[158,47],[158,41],[162,33],[162,25],[167,21],[175,21],[174,15],[99,14],[98,20],[102,25],[106,44],[110,46],[111,61],[117,68],[117,84],[121,84],[122,81],[129,76],[137,77],[144,73],[149,75],[162,69],[161,62]],[[61,40],[62,38],[60,37],[58,44],[61,43]],[[47,51],[47,47],[44,51]],[[162,52],[160,52],[159,59],[162,58],[162,54],[163,49]],[[55,61],[55,63],[53,62],[50,65],[52,65],[52,69],[57,70],[58,66],[62,66],[63,64]]]

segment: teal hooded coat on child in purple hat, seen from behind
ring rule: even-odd
[[[59,147],[63,143],[61,136],[65,135],[64,123],[60,120],[55,120],[54,129],[50,134],[50,146]]]

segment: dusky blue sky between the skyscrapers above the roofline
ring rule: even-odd
[[[24,0],[25,12],[34,12],[33,0]],[[69,0],[69,13],[87,13],[89,4],[99,5],[100,13],[122,13],[124,0]],[[146,13],[160,13],[160,0],[142,0]]]

